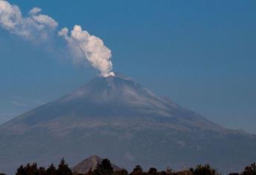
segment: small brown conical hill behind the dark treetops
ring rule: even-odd
[[[96,169],[97,165],[102,163],[102,158],[99,156],[93,155],[90,156],[88,159],[82,160],[82,162],[79,162],[76,166],[72,168],[73,172],[76,172],[77,174],[86,174],[88,171],[93,171]],[[120,168],[114,164],[112,164],[112,167],[114,171],[120,170]]]

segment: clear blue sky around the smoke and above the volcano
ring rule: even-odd
[[[256,1],[9,1],[81,25],[112,51],[114,71],[228,128],[256,133]],[[56,30],[56,32],[57,32]],[[0,122],[99,74],[0,29]]]

